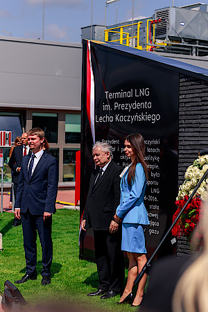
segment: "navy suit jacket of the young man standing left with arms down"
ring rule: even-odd
[[[44,211],[54,214],[58,191],[58,160],[44,153],[29,180],[29,159],[29,155],[22,158],[15,208],[20,208],[21,212],[29,209],[35,215],[43,215]]]

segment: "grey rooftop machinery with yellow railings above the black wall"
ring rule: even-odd
[[[83,39],[118,42],[208,69],[208,5],[194,3],[155,10],[152,16],[82,28]]]

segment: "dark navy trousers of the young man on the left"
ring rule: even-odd
[[[43,216],[33,215],[29,210],[21,213],[21,224],[24,238],[24,252],[26,258],[26,274],[36,272],[37,264],[37,233],[42,246],[42,276],[51,275],[53,259],[53,243],[51,239],[52,216],[43,220]]]

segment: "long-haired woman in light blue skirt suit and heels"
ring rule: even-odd
[[[139,282],[134,300],[132,288],[137,275],[147,261],[144,230],[149,220],[144,206],[144,193],[148,179],[148,166],[144,161],[144,138],[139,133],[128,135],[124,144],[125,155],[130,157],[131,164],[121,173],[121,200],[114,220],[117,223],[122,221],[121,249],[127,252],[129,268],[128,281],[119,303],[132,302],[132,306],[139,306],[144,297],[147,275],[145,274]]]

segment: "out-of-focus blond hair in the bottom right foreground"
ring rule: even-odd
[[[208,312],[207,221],[208,202],[203,206],[202,218],[196,228],[196,232],[203,236],[204,250],[177,282],[172,300],[173,312]]]

